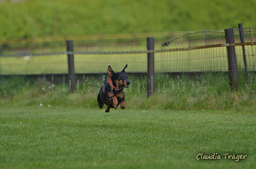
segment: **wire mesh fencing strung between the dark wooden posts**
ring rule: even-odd
[[[256,28],[243,28],[243,34],[241,42],[239,29],[234,30],[235,43],[226,42],[223,30],[156,37],[153,51],[147,50],[146,39],[76,40],[72,52],[67,51],[66,42],[2,45],[0,76],[67,75],[70,53],[74,54],[76,75],[106,74],[108,65],[121,71],[128,64],[127,73],[145,76],[147,53],[154,52],[158,75],[183,75],[211,85],[229,85],[227,47],[234,46],[239,81],[255,83]]]

